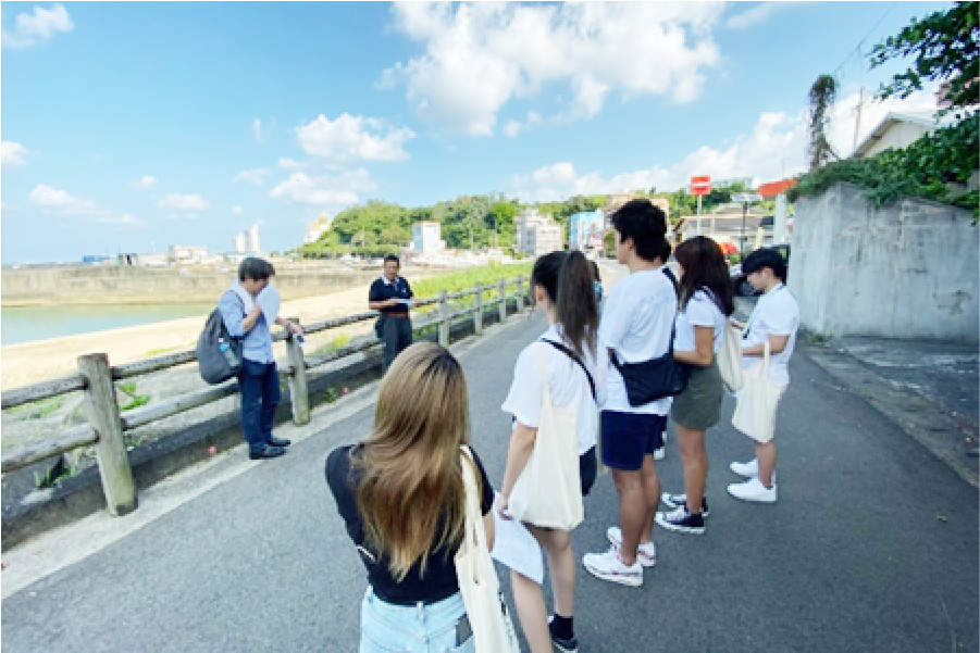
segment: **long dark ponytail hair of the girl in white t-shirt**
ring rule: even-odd
[[[594,356],[599,316],[592,272],[584,254],[551,252],[541,256],[531,269],[531,286],[545,289],[555,305],[568,346],[583,355],[582,343],[585,342],[588,353]]]

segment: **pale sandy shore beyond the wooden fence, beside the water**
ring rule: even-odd
[[[368,311],[364,287],[350,288],[320,297],[283,302],[280,314],[299,317],[303,324]],[[168,351],[194,348],[207,314],[154,324],[107,329],[23,342],[0,348],[0,388],[9,390],[28,384],[72,374],[78,369],[77,357],[88,353],[109,354],[110,365],[148,359]],[[306,351],[313,351],[340,332],[368,332],[371,323],[312,335]],[[277,346],[277,347],[281,347]],[[278,352],[277,352],[278,354]]]

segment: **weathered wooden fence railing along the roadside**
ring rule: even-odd
[[[513,293],[508,292],[513,287]],[[449,344],[449,326],[454,321],[472,315],[473,329],[483,331],[485,306],[497,303],[500,322],[507,318],[507,302],[516,299],[520,313],[524,307],[524,277],[500,279],[497,284],[484,286],[476,284],[472,290],[448,293],[441,290],[438,297],[419,302],[419,306],[437,305],[435,315],[423,315],[413,322],[414,329],[424,329],[435,325],[438,342]],[[457,307],[452,300],[474,298],[470,306]],[[377,317],[376,311],[348,315],[336,319],[327,319],[306,325],[307,334],[315,334],[337,327],[365,322]],[[289,397],[293,405],[293,423],[297,425],[310,422],[310,397],[307,390],[307,372],[370,349],[379,344],[377,338],[368,338],[362,342],[343,347],[320,355],[307,357],[302,346],[288,331],[273,335],[274,341],[286,340],[287,362],[278,365],[281,376],[288,378]],[[158,404],[148,405],[120,414],[116,403],[114,381],[142,376],[152,372],[168,369],[196,361],[194,350],[181,351],[152,359],[135,361],[122,365],[110,365],[104,353],[85,354],[78,357],[78,372],[69,376],[50,379],[8,390],[0,394],[0,407],[11,409],[50,397],[58,397],[82,390],[85,395],[85,414],[88,424],[65,429],[58,438],[35,442],[10,452],[3,452],[0,470],[12,472],[44,459],[73,451],[80,447],[96,445],[96,459],[99,476],[106,495],[107,507],[112,515],[125,515],[136,510],[136,487],[133,470],[126,454],[123,438],[124,431],[134,429],[184,411],[212,403],[238,392],[236,380],[228,380],[220,386],[204,388],[179,397],[174,397]]]

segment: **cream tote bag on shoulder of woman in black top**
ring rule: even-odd
[[[462,448],[463,488],[467,495],[466,533],[456,552],[456,577],[473,629],[476,653],[520,653],[517,632],[500,595],[497,570],[486,541],[480,514],[480,490],[475,463],[470,450]]]

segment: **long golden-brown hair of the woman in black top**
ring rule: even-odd
[[[467,382],[446,349],[418,342],[381,381],[374,430],[352,460],[364,533],[401,580],[431,551],[462,540],[460,445],[469,432]],[[439,526],[442,525],[442,528]]]

